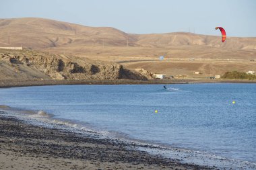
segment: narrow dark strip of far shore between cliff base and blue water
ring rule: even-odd
[[[188,84],[188,83],[256,83],[255,80],[234,79],[154,79],[148,81],[131,79],[114,80],[0,80],[0,88],[42,85],[145,85],[145,84]]]

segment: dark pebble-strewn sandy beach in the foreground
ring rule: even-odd
[[[137,151],[119,140],[35,126],[8,112],[0,111],[0,126],[0,169],[212,169]]]

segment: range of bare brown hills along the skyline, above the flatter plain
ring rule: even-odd
[[[127,34],[111,27],[82,26],[37,17],[0,19],[0,28],[1,46],[23,44],[26,48],[34,49],[52,48],[73,43],[76,45],[154,48],[189,45],[234,50],[256,49],[256,38],[227,37],[226,42],[222,43],[220,36],[189,32]]]

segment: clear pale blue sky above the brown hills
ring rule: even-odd
[[[256,37],[256,0],[0,0],[0,18],[42,17],[130,34]]]

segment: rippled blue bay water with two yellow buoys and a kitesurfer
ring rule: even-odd
[[[166,86],[16,87],[0,89],[0,104],[43,110],[53,114],[52,119],[69,120],[117,138],[214,155],[254,168],[255,84]]]

